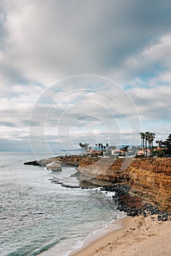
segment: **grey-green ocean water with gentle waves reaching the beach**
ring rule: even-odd
[[[39,159],[46,157],[39,154]],[[58,178],[79,184],[71,178],[74,167],[52,173],[23,165],[33,159],[28,153],[0,153],[1,256],[49,255],[53,246],[57,256],[66,256],[96,230],[124,216],[116,210],[110,193],[51,183]]]

